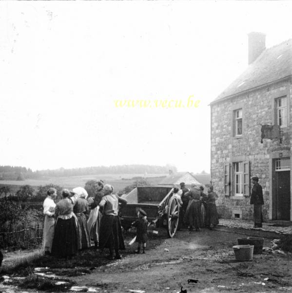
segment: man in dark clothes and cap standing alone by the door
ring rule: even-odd
[[[251,205],[253,205],[254,228],[261,228],[263,222],[262,205],[264,204],[263,188],[258,184],[258,177],[252,178],[253,189]]]

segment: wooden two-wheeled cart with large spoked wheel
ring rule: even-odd
[[[128,230],[137,218],[139,208],[147,213],[149,223],[165,227],[169,237],[174,237],[178,226],[179,203],[172,187],[136,187],[123,197],[127,205],[120,209],[121,224]]]

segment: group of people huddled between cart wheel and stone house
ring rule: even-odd
[[[189,230],[195,228],[199,231],[207,227],[212,229],[219,224],[218,213],[215,201],[218,196],[213,190],[213,186],[208,189],[208,194],[204,193],[201,186],[186,188],[185,183],[180,183],[180,189],[174,189],[175,197],[180,205],[178,230],[187,227]]]

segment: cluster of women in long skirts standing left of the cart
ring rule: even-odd
[[[111,185],[97,182],[95,197],[87,200],[84,188],[62,190],[62,199],[55,204],[55,188],[49,188],[43,203],[45,215],[43,250],[46,255],[72,257],[78,250],[91,247],[109,249],[108,257],[121,258],[119,250],[125,249],[118,217],[119,203],[127,201],[113,193]],[[90,210],[88,220],[85,214]]]

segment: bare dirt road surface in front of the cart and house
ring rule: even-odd
[[[244,230],[238,232],[244,233]],[[242,234],[183,230],[174,238],[166,238],[163,233],[160,230],[161,243],[152,243],[152,249],[146,254],[127,254],[122,260],[74,280],[79,286],[96,286],[112,293],[131,290],[176,293],[181,286],[188,293],[292,290],[291,254],[257,254],[253,261],[237,262],[232,246],[237,245],[237,238],[244,237]],[[264,246],[270,246],[270,241],[266,238]],[[127,248],[128,252],[134,249]],[[188,279],[198,283],[188,284]]]

